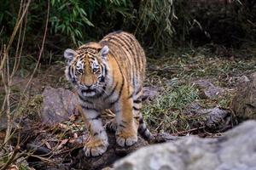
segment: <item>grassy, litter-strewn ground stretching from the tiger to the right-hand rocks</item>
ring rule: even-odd
[[[172,50],[171,50],[172,51]],[[255,51],[254,51],[255,52]],[[222,55],[221,55],[222,54]],[[151,130],[177,133],[189,130],[202,116],[186,115],[188,105],[196,102],[203,108],[230,109],[236,94],[236,78],[256,71],[256,53],[231,51],[229,56],[204,48],[177,48],[161,57],[148,57],[146,86],[158,87],[162,93],[143,107],[143,116]],[[201,99],[193,86],[195,80],[208,80],[224,88],[224,94]]]

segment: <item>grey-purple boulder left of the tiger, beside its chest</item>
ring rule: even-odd
[[[68,120],[78,114],[78,98],[73,92],[64,88],[44,88],[42,118],[44,123],[56,123]]]

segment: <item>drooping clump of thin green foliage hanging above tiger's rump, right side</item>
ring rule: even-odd
[[[172,37],[175,33],[172,20],[177,20],[175,4],[172,0],[143,1],[138,11],[137,35],[151,37],[149,46],[160,49],[172,45]]]

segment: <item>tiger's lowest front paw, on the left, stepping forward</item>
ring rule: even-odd
[[[84,144],[85,156],[101,156],[108,149],[107,139],[90,139]]]

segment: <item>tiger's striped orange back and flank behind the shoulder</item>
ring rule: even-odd
[[[135,91],[137,93],[143,86],[146,68],[146,57],[137,39],[125,31],[116,31],[103,37],[100,43],[108,44],[111,49],[109,53],[112,53],[119,63],[127,81],[137,88]]]

